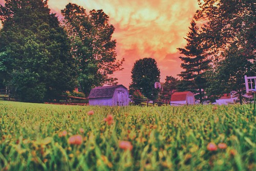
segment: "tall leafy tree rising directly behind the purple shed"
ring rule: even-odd
[[[69,3],[64,10],[63,24],[71,41],[71,54],[76,59],[78,82],[88,95],[95,86],[116,84],[114,71],[122,70],[124,61],[116,60],[116,40],[112,39],[114,26],[102,10],[89,14],[82,7]]]

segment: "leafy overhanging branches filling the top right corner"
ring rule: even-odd
[[[244,48],[248,57],[251,58],[253,54],[255,57],[256,12],[253,0],[198,2],[200,9],[195,18],[207,21],[203,25],[205,41],[212,50],[216,50],[216,55],[218,51],[224,52],[235,43],[238,48]]]

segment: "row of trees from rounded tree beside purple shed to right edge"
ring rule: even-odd
[[[244,76],[256,75],[256,15],[252,0],[198,1],[197,10],[184,38],[187,44],[177,48],[184,69],[178,80],[167,76],[161,90],[154,88],[160,71],[153,59],[135,62],[130,92],[139,90],[149,99],[170,100],[174,91],[191,91],[201,103],[214,102],[220,95],[237,91],[240,103],[245,93]],[[207,99],[205,98],[207,95]]]

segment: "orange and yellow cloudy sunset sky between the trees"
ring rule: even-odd
[[[60,16],[68,3],[90,10],[102,9],[115,27],[117,59],[125,59],[121,71],[114,77],[129,87],[131,71],[136,60],[154,58],[160,69],[160,82],[166,76],[179,78],[182,68],[178,47],[184,47],[183,37],[189,31],[190,21],[199,8],[197,0],[49,0],[51,12]],[[4,0],[0,0],[4,5]]]

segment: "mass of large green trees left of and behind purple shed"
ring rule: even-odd
[[[22,102],[48,101],[78,86],[115,84],[115,30],[102,10],[86,12],[69,3],[63,20],[50,13],[47,1],[6,0],[0,6],[0,82]]]

